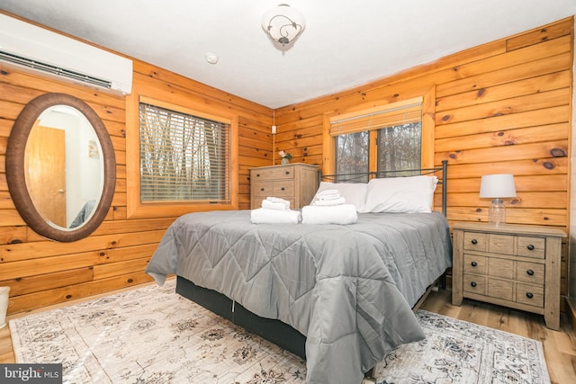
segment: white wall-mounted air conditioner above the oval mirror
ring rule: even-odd
[[[0,64],[113,94],[132,91],[132,60],[3,13]]]

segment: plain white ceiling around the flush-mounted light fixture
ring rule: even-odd
[[[303,13],[306,29],[284,52],[260,26],[280,0],[0,0],[0,9],[271,108],[576,13],[576,0],[285,2]]]

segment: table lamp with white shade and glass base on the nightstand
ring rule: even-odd
[[[480,183],[480,197],[492,198],[488,210],[488,222],[499,225],[506,222],[503,198],[516,197],[513,174],[485,174]]]

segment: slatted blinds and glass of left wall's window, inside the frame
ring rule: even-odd
[[[140,201],[229,201],[229,123],[139,103]]]

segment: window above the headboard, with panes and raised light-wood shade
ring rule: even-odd
[[[433,166],[434,121],[423,113],[431,94],[329,118],[325,146],[333,148],[326,156],[332,164],[325,164],[323,172],[354,174]]]

